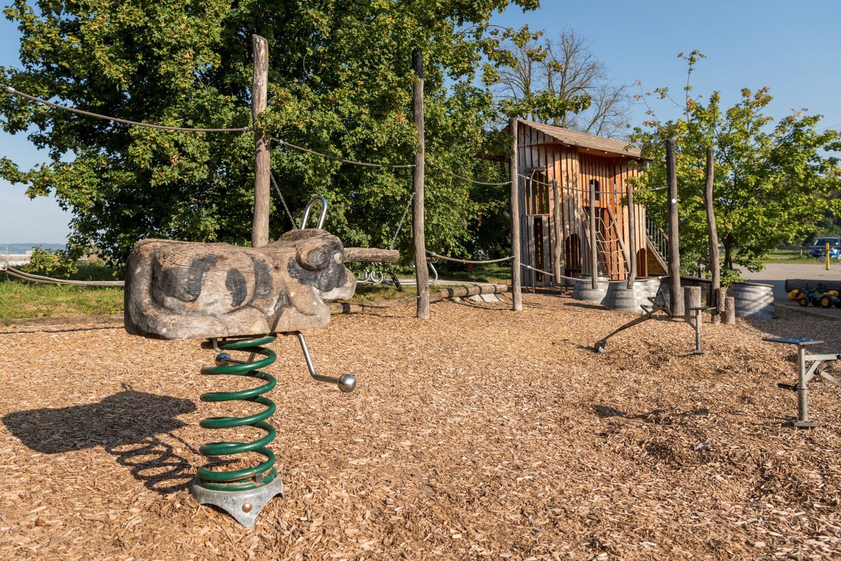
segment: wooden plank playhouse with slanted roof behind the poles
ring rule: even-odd
[[[637,177],[644,165],[639,149],[621,140],[519,120],[516,157],[522,262],[552,272],[558,259],[563,276],[595,270],[611,279],[627,278],[630,244],[623,199],[627,179]],[[595,263],[590,257],[590,188],[595,189]],[[634,206],[637,276],[664,273],[661,253],[647,236],[645,207]],[[522,275],[527,286],[552,283],[534,270],[523,268]]]

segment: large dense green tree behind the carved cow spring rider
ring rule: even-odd
[[[473,87],[494,48],[489,18],[538,0],[187,0],[111,3],[16,0],[21,68],[8,86],[121,119],[187,127],[251,124],[251,34],[269,43],[275,137],[357,161],[405,164],[415,151],[411,51],[426,58],[426,151],[459,172],[484,142],[489,93]],[[54,194],[72,213],[71,245],[93,242],[121,262],[135,241],[249,239],[253,135],[138,128],[88,119],[0,93],[3,129],[24,133],[49,161],[0,176]],[[472,173],[474,165],[461,173]],[[410,197],[411,171],[357,167],[277,148],[272,171],[296,212],[330,201],[327,227],[348,245],[387,246]],[[426,239],[435,251],[468,241],[468,184],[429,172]],[[273,201],[275,238],[291,226]],[[299,214],[295,217],[299,220]],[[399,240],[410,248],[410,229]],[[408,255],[408,251],[405,251]]]

